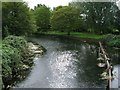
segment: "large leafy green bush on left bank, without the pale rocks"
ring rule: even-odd
[[[23,69],[22,65],[29,65],[30,61],[24,63],[28,52],[28,43],[23,37],[4,38],[2,42],[2,78],[5,86],[11,85],[12,79]]]

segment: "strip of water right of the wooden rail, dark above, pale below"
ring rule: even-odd
[[[112,88],[118,88],[120,87],[120,49],[107,48],[107,52],[109,52],[113,64]]]

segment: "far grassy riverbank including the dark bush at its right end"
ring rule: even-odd
[[[81,33],[81,32],[71,32],[70,35],[67,35],[67,32],[56,31],[47,32],[45,33],[45,35],[64,36],[88,43],[98,43],[99,41],[101,41],[108,47],[120,49],[120,35],[114,34],[98,35],[93,33]]]

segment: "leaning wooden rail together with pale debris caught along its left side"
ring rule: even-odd
[[[112,65],[111,65],[111,60],[108,58],[107,53],[105,52],[105,49],[102,46],[102,43],[99,42],[99,58],[100,63],[98,64],[99,67],[106,67],[105,73],[106,73],[106,79],[108,82],[107,88],[110,90],[112,88],[111,81],[112,81]]]

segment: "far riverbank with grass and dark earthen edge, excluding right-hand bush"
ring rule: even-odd
[[[56,32],[50,31],[46,33],[36,33],[35,36],[60,36],[70,39],[75,39],[81,42],[95,43],[98,44],[99,41],[102,41],[106,38],[106,35],[96,35],[91,33],[80,33],[80,32],[71,32],[70,35],[67,35],[67,32]]]

